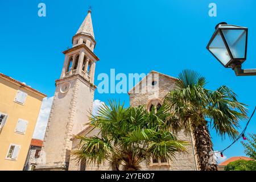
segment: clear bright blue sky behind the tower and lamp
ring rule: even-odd
[[[38,4],[46,3],[47,16],[38,16]],[[217,17],[208,15],[208,5],[217,5]],[[1,1],[0,2],[0,72],[53,96],[55,80],[63,66],[62,51],[71,47],[88,6],[97,41],[94,52],[100,61],[99,73],[148,73],[159,71],[176,77],[183,69],[193,69],[208,80],[207,87],[227,85],[249,105],[255,103],[256,77],[236,77],[225,69],[205,48],[214,26],[228,22],[249,27],[247,61],[243,68],[256,67],[256,24],[254,0],[161,0],[161,1]],[[99,81],[96,79],[96,85]],[[99,94],[106,102],[115,98],[129,105],[127,94]],[[245,122],[242,122],[242,127]],[[242,130],[242,129],[241,129]],[[255,133],[255,118],[246,133]],[[230,140],[211,132],[214,150],[222,150]],[[225,152],[227,157],[241,156],[240,142]]]

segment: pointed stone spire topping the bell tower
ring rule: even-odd
[[[88,14],[86,16],[86,18],[84,19],[84,22],[82,22],[79,30],[76,32],[76,34],[87,34],[92,36],[92,38],[94,39],[94,32],[93,32],[93,25],[92,25],[92,6],[89,6],[88,9]]]

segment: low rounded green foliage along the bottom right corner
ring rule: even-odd
[[[225,171],[256,171],[255,160],[236,160],[225,167]]]

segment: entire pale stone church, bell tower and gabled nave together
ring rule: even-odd
[[[64,51],[65,61],[61,76],[56,80],[56,91],[46,135],[40,156],[42,163],[36,170],[109,170],[108,163],[101,166],[88,166],[77,163],[71,151],[79,144],[74,135],[97,135],[100,131],[90,133],[88,111],[92,110],[94,91],[94,73],[99,60],[93,53],[96,45],[94,40],[91,12],[88,11],[79,31],[72,39],[73,47]],[[150,75],[150,76],[149,76]],[[152,71],[129,91],[130,106],[144,105],[150,109],[152,105],[162,104],[164,96],[174,89],[176,78]],[[146,83],[146,84],[145,84]],[[149,83],[149,84],[148,84]],[[138,92],[139,90],[139,92]],[[187,140],[188,155],[176,155],[173,161],[151,160],[142,170],[197,170],[196,155],[191,134],[180,132],[177,138]]]

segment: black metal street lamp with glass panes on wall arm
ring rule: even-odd
[[[242,69],[246,60],[248,28],[217,24],[207,49],[225,68],[232,68],[237,76],[256,75],[256,69]]]

